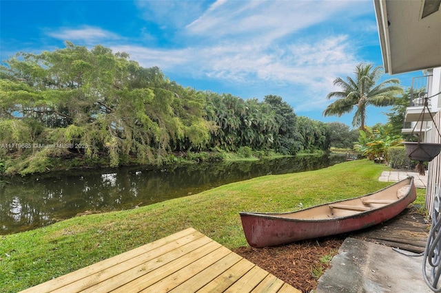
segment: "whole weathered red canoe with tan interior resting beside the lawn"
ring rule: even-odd
[[[416,199],[413,177],[375,193],[290,213],[239,213],[250,246],[262,248],[380,224]]]

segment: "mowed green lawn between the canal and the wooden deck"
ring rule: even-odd
[[[227,248],[246,246],[239,211],[286,212],[299,209],[300,202],[306,208],[371,193],[390,185],[378,182],[385,170],[389,168],[358,160],[268,175],[151,206],[74,217],[0,236],[0,288],[17,292],[189,227]]]

